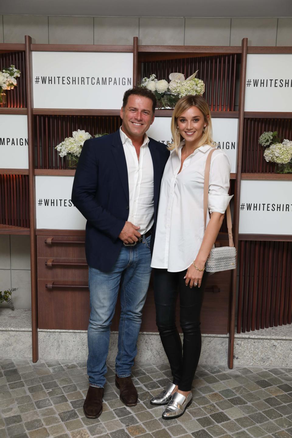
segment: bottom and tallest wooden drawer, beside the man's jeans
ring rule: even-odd
[[[39,329],[87,330],[88,281],[39,279],[38,308]]]

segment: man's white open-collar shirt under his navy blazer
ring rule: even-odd
[[[149,138],[144,135],[139,159],[135,147],[120,128],[120,136],[126,156],[129,182],[128,221],[140,226],[139,233],[145,234],[154,222],[153,162],[148,148]]]

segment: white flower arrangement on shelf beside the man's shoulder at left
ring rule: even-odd
[[[95,134],[96,137],[102,137],[107,134]],[[59,152],[60,157],[68,156],[68,167],[76,167],[80,157],[84,141],[92,138],[89,132],[78,129],[72,132],[72,137],[66,137],[55,149]]]

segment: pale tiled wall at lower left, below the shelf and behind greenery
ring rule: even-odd
[[[31,308],[29,236],[0,235],[0,290],[16,287],[12,300],[17,309]],[[6,303],[0,307],[8,307]]]

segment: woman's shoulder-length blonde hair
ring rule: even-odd
[[[169,151],[172,149],[176,150],[178,153],[178,148],[180,142],[183,140],[183,137],[180,134],[177,134],[177,119],[178,117],[189,109],[191,106],[197,106],[200,109],[201,113],[204,115],[205,123],[207,123],[206,130],[203,132],[203,135],[200,139],[199,146],[202,145],[215,145],[213,141],[213,131],[212,131],[212,122],[211,122],[211,113],[209,109],[208,103],[202,96],[193,96],[188,95],[184,96],[176,102],[176,106],[173,109],[172,118],[171,118],[171,134],[172,134],[172,143],[168,144]],[[209,118],[207,117],[209,116]]]

